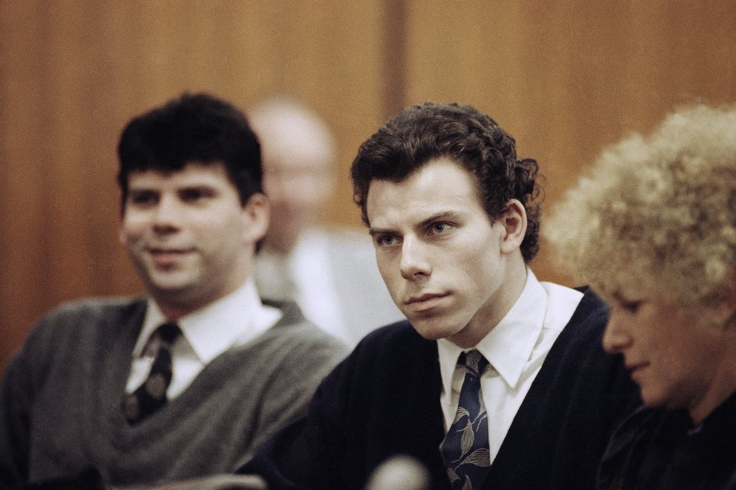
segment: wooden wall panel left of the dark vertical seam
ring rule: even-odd
[[[341,166],[326,219],[357,225],[347,168],[383,119],[381,15],[378,0],[1,0],[0,366],[60,302],[141,291],[116,238],[116,144],[183,90],[322,113]]]

